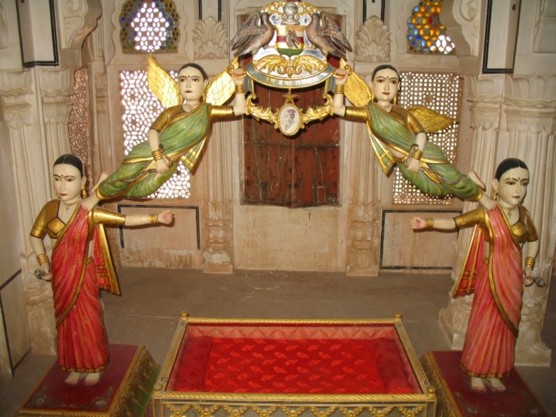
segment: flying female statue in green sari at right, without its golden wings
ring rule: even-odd
[[[442,150],[427,141],[419,120],[395,101],[400,89],[400,75],[391,65],[379,65],[373,72],[372,95],[364,107],[344,105],[344,85],[347,72],[336,70],[333,110],[336,115],[366,120],[373,149],[384,172],[389,174],[397,165],[404,178],[429,195],[457,195],[480,202],[486,208],[496,203],[482,193],[484,183],[471,171],[464,175]],[[356,76],[350,74],[350,78]],[[361,80],[358,88],[368,89]],[[346,93],[347,94],[347,93]],[[372,96],[370,96],[372,97]],[[350,98],[350,97],[348,97]],[[366,101],[363,101],[366,102]]]

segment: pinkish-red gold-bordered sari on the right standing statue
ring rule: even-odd
[[[475,293],[466,332],[461,368],[473,377],[506,377],[514,367],[514,347],[521,318],[523,269],[521,247],[512,239],[505,215],[487,213],[491,236],[484,262],[484,236],[475,227],[454,297]]]

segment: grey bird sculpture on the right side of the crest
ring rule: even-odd
[[[345,58],[346,51],[352,51],[350,42],[326,13],[313,13],[305,34],[313,47],[320,49],[324,56],[330,54]]]

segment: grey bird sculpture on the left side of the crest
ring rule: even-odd
[[[268,45],[274,33],[275,28],[270,23],[270,15],[257,11],[247,19],[231,40],[231,50],[234,51],[234,56],[249,53],[254,55],[261,47]]]

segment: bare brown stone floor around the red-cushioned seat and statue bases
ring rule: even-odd
[[[418,356],[448,350],[439,310],[448,304],[448,275],[384,274],[345,277],[320,272],[243,272],[205,275],[195,271],[125,268],[122,297],[103,293],[111,343],[145,345],[163,363],[181,311],[193,317],[391,318],[402,313]],[[551,291],[543,341],[556,352],[556,296]],[[0,415],[13,416],[55,357],[29,355],[15,377],[0,379]],[[518,367],[541,403],[556,416],[556,364]]]

